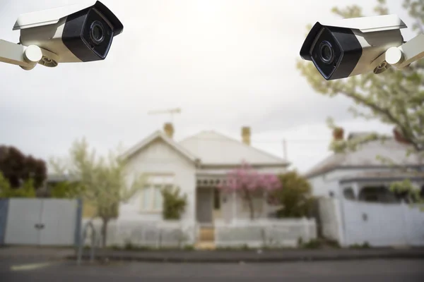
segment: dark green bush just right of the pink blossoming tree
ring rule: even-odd
[[[278,217],[307,216],[312,207],[312,188],[306,178],[297,171],[289,171],[278,176],[281,187],[270,193],[270,201],[281,206],[277,210]]]

